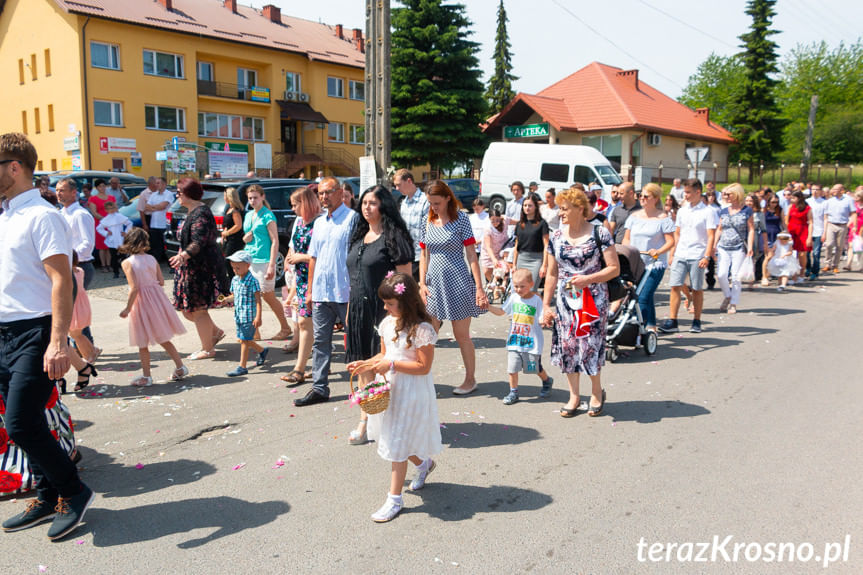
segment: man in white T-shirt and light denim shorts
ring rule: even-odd
[[[677,313],[680,311],[680,294],[683,284],[689,277],[692,289],[692,304],[695,308],[694,319],[689,331],[701,333],[701,309],[704,305],[705,272],[713,257],[716,245],[716,228],[719,213],[708,207],[701,199],[701,182],[695,178],[686,180],[683,198],[688,205],[677,212],[674,229],[674,259],[671,262],[671,298],[669,319],[659,326],[663,333],[679,331]]]

